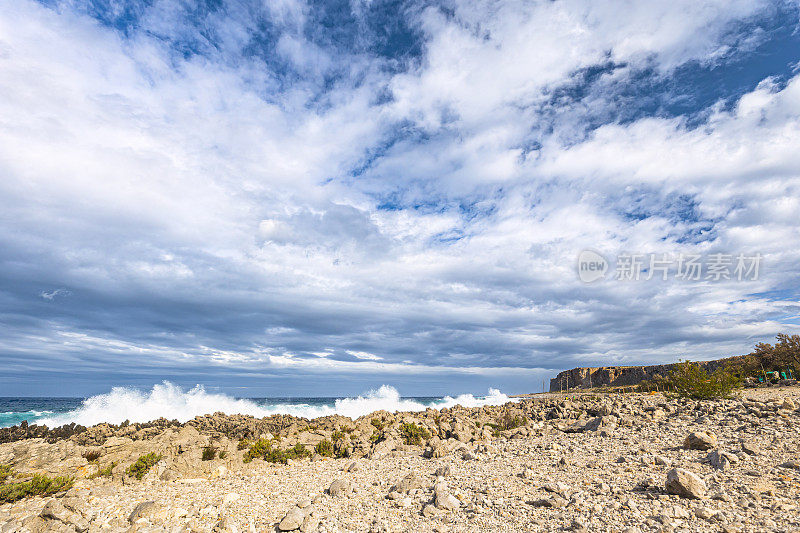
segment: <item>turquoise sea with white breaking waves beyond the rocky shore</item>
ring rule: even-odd
[[[114,387],[106,394],[89,398],[0,398],[0,427],[14,426],[23,420],[51,428],[71,422],[91,426],[125,420],[149,422],[160,417],[185,422],[218,411],[258,418],[275,414],[306,418],[340,414],[358,418],[379,410],[424,411],[428,407],[479,407],[509,401],[512,399],[496,389],[489,389],[486,396],[403,397],[388,385],[344,398],[236,398],[207,392],[201,385],[183,389],[164,382],[149,391]]]

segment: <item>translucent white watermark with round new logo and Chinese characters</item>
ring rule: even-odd
[[[578,277],[591,283],[606,277],[612,270],[617,281],[669,279],[682,281],[757,281],[763,256],[760,253],[724,254],[620,254],[615,268],[600,253],[584,250],[578,256]]]

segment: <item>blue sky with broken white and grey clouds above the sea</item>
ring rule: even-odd
[[[0,396],[748,353],[798,221],[796,1],[0,2]],[[616,279],[650,254],[759,271]]]

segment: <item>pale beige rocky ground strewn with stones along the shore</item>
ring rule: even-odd
[[[420,445],[404,442],[414,440],[404,423],[428,432]],[[217,414],[0,437],[10,441],[0,464],[15,473],[6,483],[75,477],[66,493],[0,505],[2,533],[800,531],[796,386],[702,402],[543,396],[355,421]],[[245,463],[240,439],[259,437],[282,449],[325,440],[349,457]],[[203,460],[209,446],[215,458]],[[161,459],[135,479],[128,467],[150,452]]]

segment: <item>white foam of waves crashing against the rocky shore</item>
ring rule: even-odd
[[[244,414],[264,417],[275,414],[290,414],[316,418],[340,414],[357,418],[375,411],[424,411],[428,407],[444,408],[454,405],[478,407],[500,405],[512,401],[496,389],[489,389],[485,397],[462,394],[455,398],[446,396],[430,402],[404,399],[394,387],[383,385],[356,398],[341,398],[326,405],[307,403],[259,403],[254,400],[236,399],[225,394],[210,393],[197,385],[190,390],[165,381],[149,392],[126,387],[114,387],[111,392],[92,396],[79,408],[63,414],[36,420],[37,424],[57,427],[70,422],[91,426],[101,422],[119,424],[125,420],[148,422],[157,418],[185,422],[198,415],[216,412]]]

